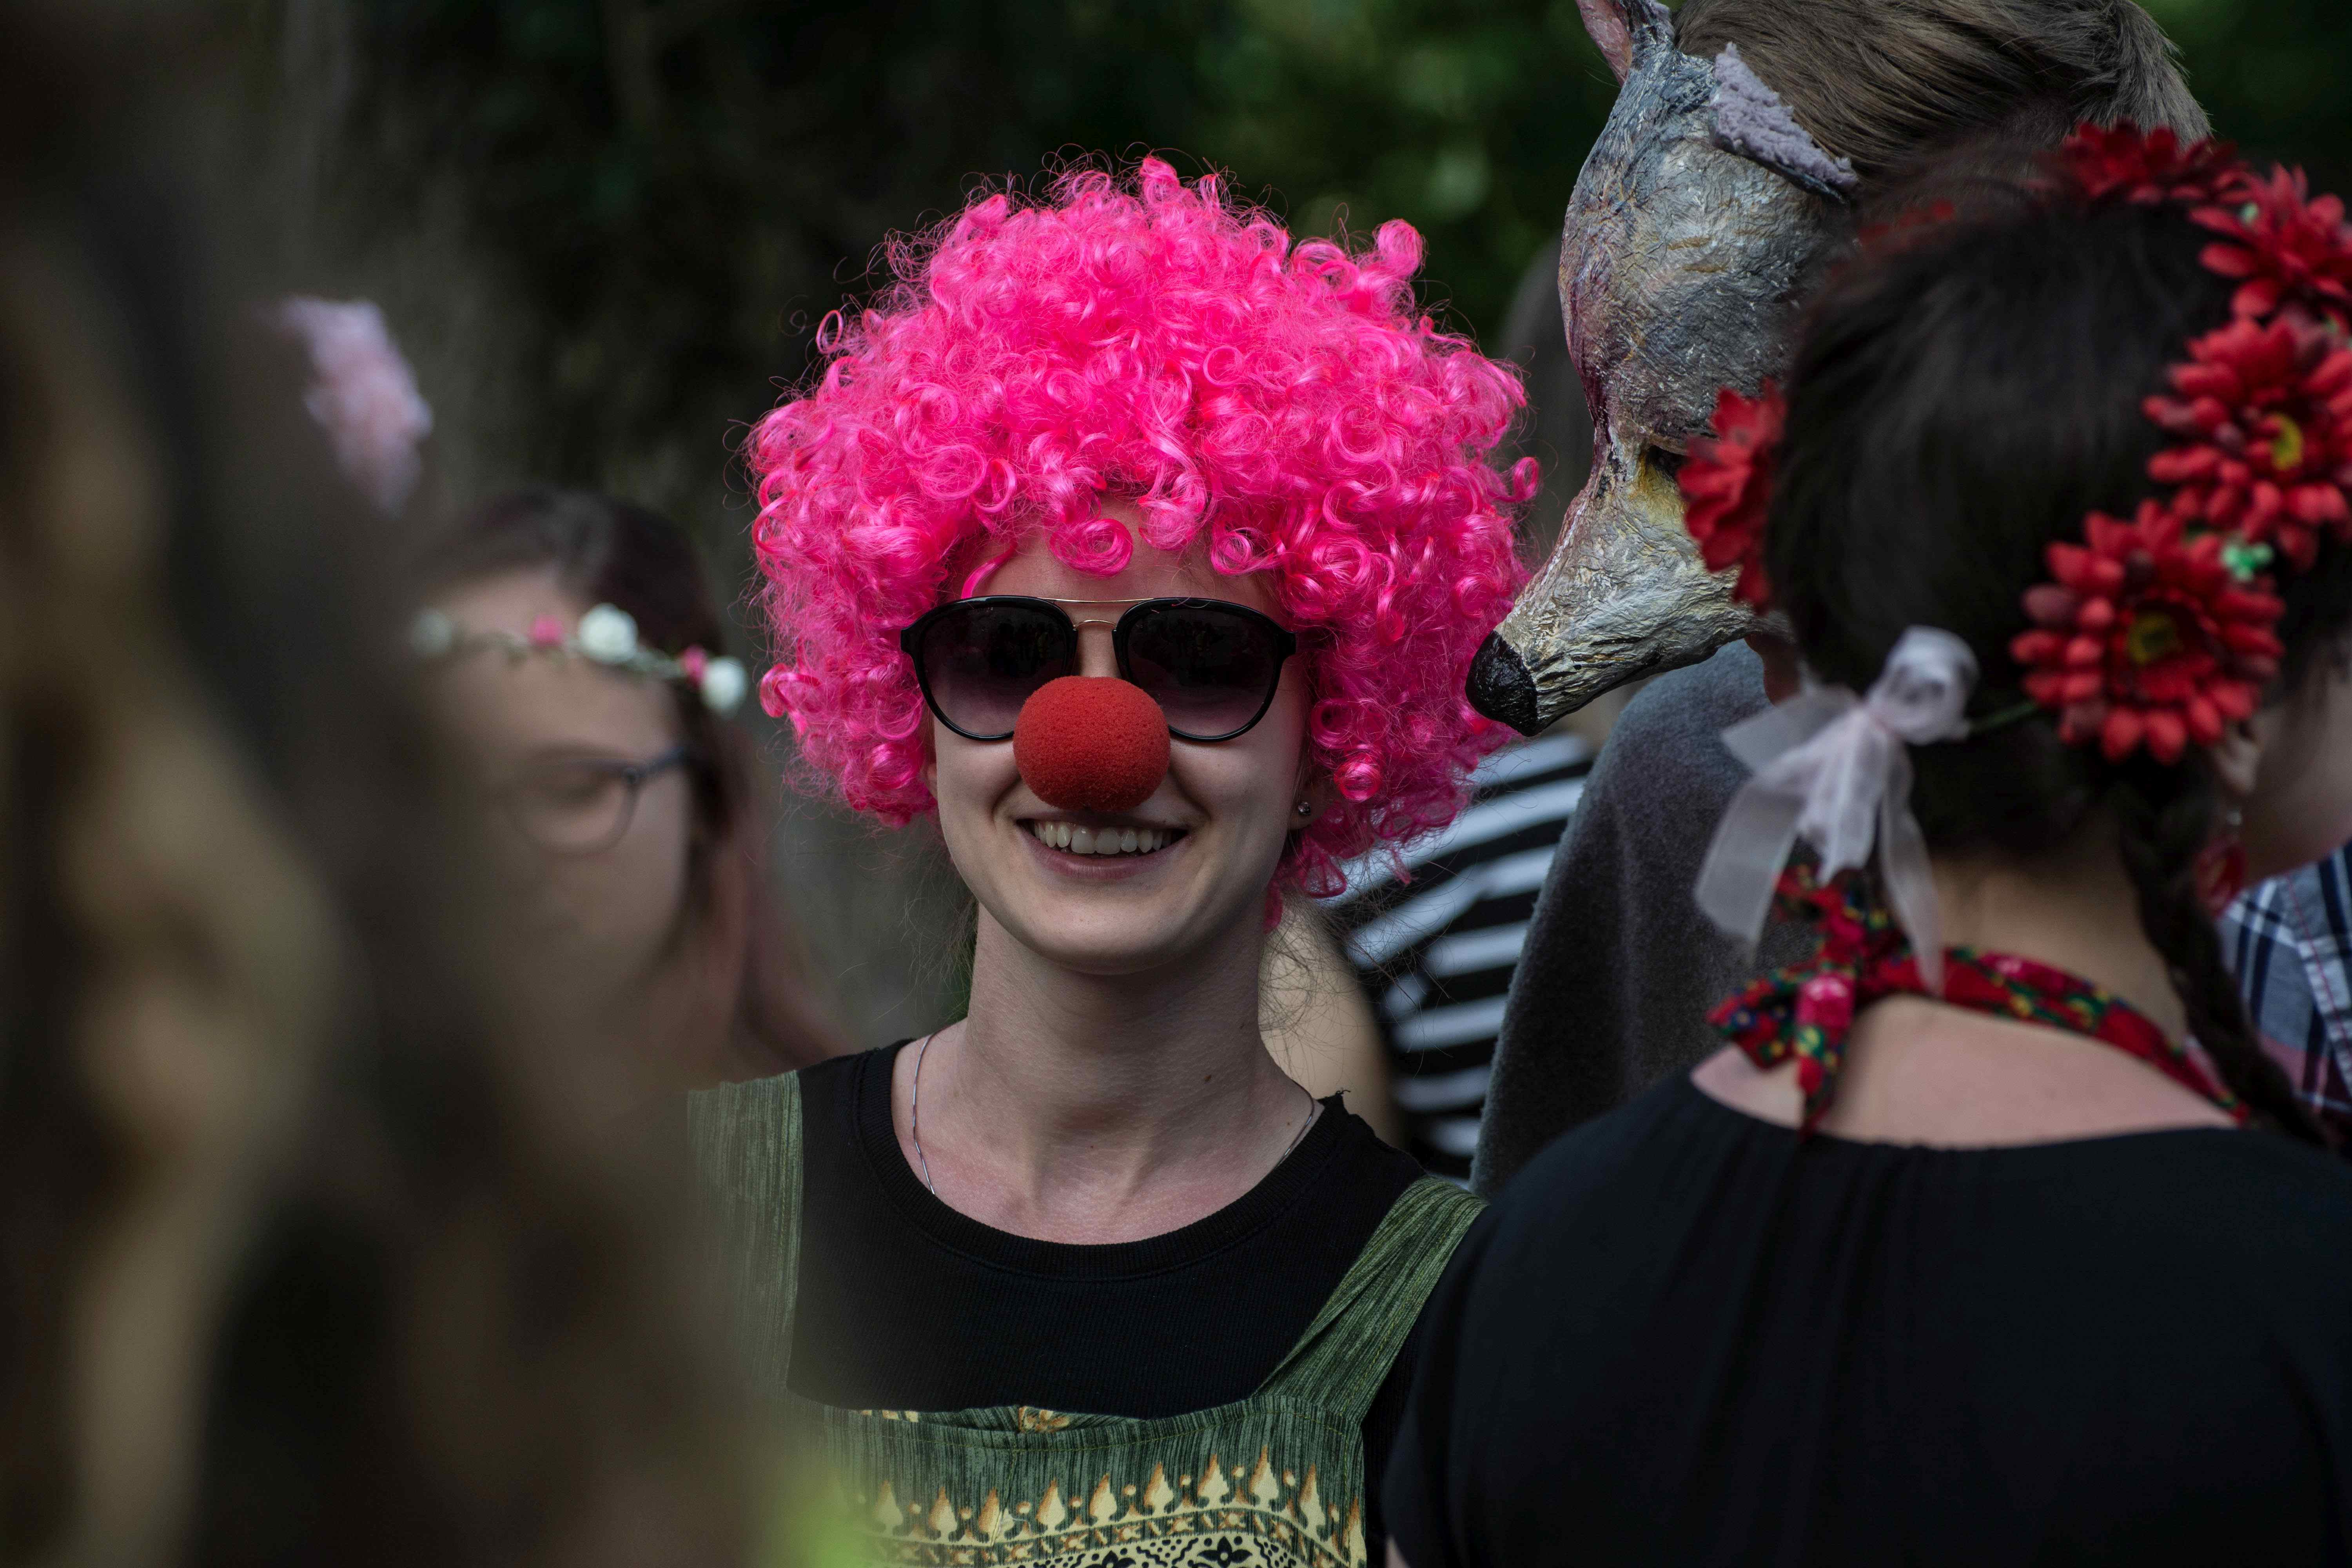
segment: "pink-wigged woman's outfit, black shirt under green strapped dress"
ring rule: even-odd
[[[1176,1232],[1004,1234],[908,1168],[894,1053],[689,1105],[750,1368],[858,1561],[1367,1568],[1409,1342],[1482,1204],[1327,1100]]]

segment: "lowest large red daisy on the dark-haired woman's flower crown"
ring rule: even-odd
[[[2058,581],[2025,592],[2034,630],[2009,644],[2025,693],[2058,712],[2060,741],[2096,736],[2110,762],[2213,745],[2277,675],[2284,607],[2265,583],[2237,581],[2223,534],[2183,538],[2154,501],[2131,522],[2091,512],[2084,531],[2089,545],[2049,545]]]

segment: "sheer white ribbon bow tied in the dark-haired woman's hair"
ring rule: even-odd
[[[1755,773],[1731,797],[1708,860],[1698,907],[1729,936],[1764,931],[1780,867],[1802,837],[1820,851],[1820,879],[1870,865],[1919,959],[1919,978],[1943,990],[1943,931],[1926,837],[1910,809],[1910,748],[1969,733],[1976,654],[1952,632],[1903,632],[1870,696],[1813,686],[1733,724],[1724,745]]]

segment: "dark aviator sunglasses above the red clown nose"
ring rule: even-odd
[[[1117,607],[1117,621],[1077,621],[1075,607]],[[1110,625],[1120,677],[1141,686],[1178,741],[1232,741],[1275,703],[1298,637],[1225,599],[1028,599],[993,595],[941,604],[898,632],[922,701],[967,741],[1009,741],[1037,686],[1077,675],[1077,628]]]

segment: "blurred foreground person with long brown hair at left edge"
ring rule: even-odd
[[[202,21],[0,19],[0,1556],[741,1563],[628,1053],[468,877],[296,346],[205,308]]]

